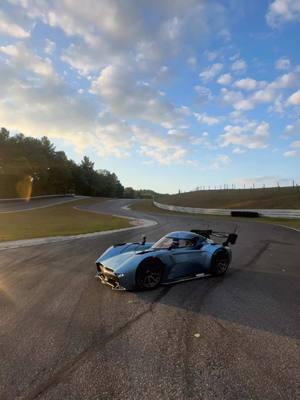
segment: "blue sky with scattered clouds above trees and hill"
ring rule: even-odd
[[[300,184],[300,0],[4,0],[0,121],[125,186]]]

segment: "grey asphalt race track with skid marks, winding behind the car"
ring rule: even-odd
[[[91,209],[146,217],[121,209],[128,202]],[[94,260],[112,243],[207,227],[193,216],[152,219],[147,229],[0,251],[1,400],[299,396],[300,233],[238,223],[225,277],[139,293],[95,280]]]

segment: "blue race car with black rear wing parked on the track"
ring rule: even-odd
[[[215,243],[211,236],[224,238]],[[232,254],[236,233],[192,230],[171,232],[155,243],[120,243],[109,247],[97,260],[96,278],[119,290],[149,290],[160,284],[223,275]]]

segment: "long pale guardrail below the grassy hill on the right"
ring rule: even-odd
[[[193,207],[180,207],[168,204],[158,203],[153,201],[153,204],[162,210],[184,212],[188,214],[209,214],[209,215],[231,215],[231,211],[250,211],[258,212],[261,217],[272,218],[290,218],[300,219],[300,210],[276,210],[276,209],[227,209],[227,208],[193,208]]]

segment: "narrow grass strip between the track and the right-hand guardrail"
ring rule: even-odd
[[[145,213],[156,213],[156,214],[168,214],[168,215],[193,215],[195,218],[201,218],[209,220],[215,220],[216,218],[218,219],[225,219],[225,220],[231,220],[231,221],[254,221],[254,222],[259,222],[259,223],[266,223],[266,224],[273,224],[273,225],[282,225],[286,226],[289,228],[294,228],[294,229],[300,229],[300,219],[287,219],[287,218],[266,218],[266,217],[260,217],[260,218],[236,218],[236,217],[230,217],[226,215],[203,215],[203,214],[188,214],[188,213],[178,213],[175,211],[167,211],[167,210],[162,210],[161,208],[157,208],[153,205],[152,200],[144,200],[142,202],[133,204],[130,206],[132,210],[136,211],[141,211]]]

